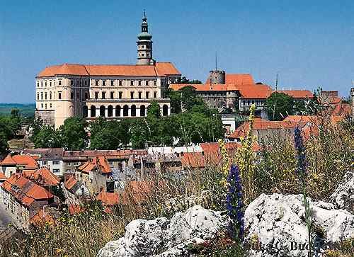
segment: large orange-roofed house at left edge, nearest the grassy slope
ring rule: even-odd
[[[39,210],[55,202],[55,196],[23,174],[15,173],[0,185],[0,202],[26,229]]]

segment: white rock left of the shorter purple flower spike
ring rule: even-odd
[[[185,256],[188,245],[212,239],[225,224],[219,212],[200,205],[177,212],[171,221],[136,219],[127,224],[124,237],[108,242],[98,256]]]

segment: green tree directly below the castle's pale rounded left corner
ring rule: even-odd
[[[89,137],[86,132],[87,122],[83,118],[67,118],[59,127],[62,147],[80,150],[87,147]]]

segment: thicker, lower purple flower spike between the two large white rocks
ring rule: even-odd
[[[244,238],[244,204],[242,202],[242,185],[239,167],[232,164],[229,176],[227,176],[227,215],[230,218],[229,234],[241,241]]]

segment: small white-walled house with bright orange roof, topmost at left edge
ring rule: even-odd
[[[37,168],[37,161],[29,154],[8,154],[5,159],[0,162],[0,171],[5,174],[6,178],[11,177],[12,174],[17,172]]]

